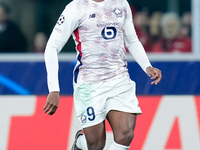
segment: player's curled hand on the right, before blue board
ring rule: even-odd
[[[151,82],[151,84],[157,85],[162,79],[162,74],[159,69],[153,67],[147,67],[146,71],[147,74],[151,77],[151,79],[154,80]]]

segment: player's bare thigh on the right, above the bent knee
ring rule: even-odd
[[[107,114],[107,119],[113,130],[114,138],[122,137],[126,134],[133,134],[136,125],[136,114],[111,110]]]

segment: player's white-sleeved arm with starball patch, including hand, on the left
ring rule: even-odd
[[[78,12],[76,3],[72,1],[62,12],[51,36],[47,42],[44,53],[47,70],[47,84],[49,95],[44,106],[44,112],[53,115],[59,105],[59,80],[58,80],[58,53],[68,41],[72,32],[78,27]]]

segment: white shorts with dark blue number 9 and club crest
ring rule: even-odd
[[[102,83],[74,84],[74,106],[83,128],[99,124],[110,110],[142,113],[135,82],[129,76]]]

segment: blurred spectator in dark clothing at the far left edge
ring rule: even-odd
[[[0,2],[0,52],[25,52],[27,43],[19,27],[9,19],[10,8]]]

